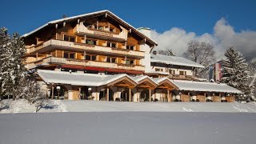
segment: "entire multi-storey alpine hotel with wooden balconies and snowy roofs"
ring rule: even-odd
[[[22,36],[26,68],[48,98],[126,102],[234,102],[239,90],[195,82],[181,57],[151,54],[150,29],[135,29],[109,10],[62,18]],[[166,57],[166,58],[165,58]]]

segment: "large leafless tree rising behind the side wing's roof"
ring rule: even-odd
[[[183,55],[185,58],[203,66],[209,66],[216,59],[213,45],[195,40],[188,43],[188,50]],[[200,69],[194,68],[194,74],[196,76],[198,76],[200,71]]]

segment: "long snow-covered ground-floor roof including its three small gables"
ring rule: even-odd
[[[101,74],[82,74],[82,73],[69,73],[65,71],[56,70],[38,70],[38,75],[46,83],[59,83],[70,84],[73,86],[105,86],[110,82],[114,82],[119,78],[130,78],[130,80],[136,84],[148,76],[130,77],[127,74],[114,74],[114,75],[101,75]],[[223,92],[223,93],[235,93],[241,94],[240,90],[237,90],[226,84],[218,84],[215,82],[194,82],[186,80],[170,80],[169,78],[150,78],[156,85],[160,82],[168,80],[177,90],[190,90],[190,91],[210,91],[210,92]]]

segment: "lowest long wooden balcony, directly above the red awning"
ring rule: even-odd
[[[27,69],[33,69],[34,67],[37,67],[37,66],[47,66],[51,64],[102,67],[107,69],[118,69],[118,70],[139,70],[139,71],[145,70],[145,66],[123,65],[123,64],[110,63],[110,62],[86,61],[86,60],[80,60],[80,59],[55,58],[55,57],[47,57],[47,58],[42,58],[35,62],[30,62],[26,65],[26,67]]]

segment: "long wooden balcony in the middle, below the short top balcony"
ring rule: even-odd
[[[86,53],[93,53],[93,54],[106,54],[106,55],[114,55],[120,57],[127,57],[127,58],[144,58],[145,53],[142,51],[135,51],[135,50],[126,50],[121,48],[113,48],[107,46],[94,46],[88,45],[86,43],[80,42],[67,42],[62,40],[50,39],[49,41],[42,42],[36,46],[32,46],[27,49],[28,54],[35,54],[36,52],[46,52],[54,49],[61,49],[61,50],[76,50]]]

